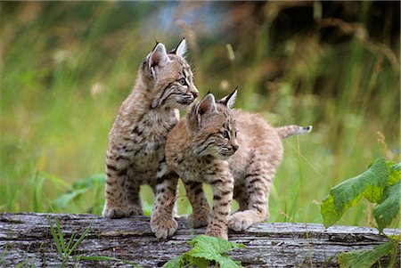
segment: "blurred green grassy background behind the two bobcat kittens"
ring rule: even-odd
[[[237,108],[314,126],[283,142],[270,222],[322,223],[332,186],[375,158],[399,161],[399,2],[0,7],[0,211],[101,213],[107,135],[155,40],[186,37],[201,96],[238,85]],[[191,211],[184,191],[178,207]],[[363,202],[340,223],[374,224],[371,211]]]

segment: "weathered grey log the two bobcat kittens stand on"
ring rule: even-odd
[[[61,267],[47,216],[0,213],[0,267],[15,267],[24,262],[28,267]],[[153,236],[146,216],[119,220],[98,215],[50,216],[57,216],[67,238],[73,231],[79,237],[91,225],[66,267],[129,266],[117,261],[82,261],[75,256],[112,256],[143,267],[160,267],[187,251],[186,242],[193,235],[204,232],[189,229],[181,218],[176,235],[160,242]],[[332,226],[326,230],[322,224],[313,223],[258,223],[245,232],[230,232],[229,240],[246,246],[231,254],[246,267],[337,267],[340,252],[372,248],[385,241],[372,228]]]

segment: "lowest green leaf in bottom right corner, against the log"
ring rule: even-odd
[[[338,257],[341,268],[366,268],[377,263],[382,256],[394,254],[397,243],[389,241],[372,249],[343,252]]]

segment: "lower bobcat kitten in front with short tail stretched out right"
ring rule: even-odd
[[[227,225],[242,231],[266,221],[270,184],[282,159],[281,138],[311,130],[274,128],[255,114],[231,110],[235,97],[236,91],[215,102],[209,93],[171,130],[166,143],[168,168],[181,177],[192,204],[190,223],[208,225],[208,235],[225,240]],[[201,183],[212,185],[210,216]],[[230,215],[233,198],[239,210]]]

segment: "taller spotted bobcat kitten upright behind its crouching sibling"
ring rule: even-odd
[[[192,70],[183,58],[185,50],[184,39],[171,53],[157,44],[119,109],[106,157],[105,217],[142,215],[139,186],[149,184],[153,191],[163,191],[164,181],[170,178],[164,153],[166,137],[179,120],[177,109],[187,108],[198,96]],[[173,188],[167,199],[175,198]],[[165,205],[171,214],[173,206]]]

